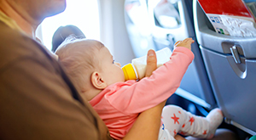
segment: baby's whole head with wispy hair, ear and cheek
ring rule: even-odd
[[[55,53],[75,87],[87,100],[109,85],[125,81],[120,64],[114,62],[102,42],[68,38]]]

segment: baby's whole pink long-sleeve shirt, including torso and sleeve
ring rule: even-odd
[[[154,70],[152,76],[114,83],[92,98],[90,104],[108,126],[111,137],[125,137],[139,113],[169,98],[193,59],[188,48],[175,48],[170,60]]]

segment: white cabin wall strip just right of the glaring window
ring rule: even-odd
[[[98,0],[101,41],[121,65],[135,58],[125,27],[125,0]]]

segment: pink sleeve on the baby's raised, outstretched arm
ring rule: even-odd
[[[175,48],[170,61],[154,70],[152,76],[145,77],[130,87],[120,87],[111,98],[106,98],[109,104],[125,114],[150,109],[177,90],[193,59],[194,54],[188,48]]]

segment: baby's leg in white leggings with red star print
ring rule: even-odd
[[[178,106],[167,105],[162,113],[165,129],[172,137],[179,133],[184,136],[211,138],[222,120],[220,109],[213,109],[207,117],[201,117]]]

